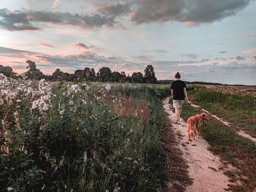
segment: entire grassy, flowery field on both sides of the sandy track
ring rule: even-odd
[[[214,155],[236,168],[223,172],[229,190],[253,191],[256,145],[236,132],[256,137],[254,94],[193,86],[189,101],[232,123],[211,118],[202,127]],[[162,107],[170,85],[13,80],[0,74],[0,96],[1,191],[165,191],[167,180],[173,191],[192,185],[176,147],[179,136]],[[200,112],[184,104],[181,115],[187,120]]]

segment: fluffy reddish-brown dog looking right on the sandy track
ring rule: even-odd
[[[209,120],[206,113],[202,112],[200,115],[195,115],[187,119],[187,132],[189,139],[199,138],[200,128],[205,120]]]

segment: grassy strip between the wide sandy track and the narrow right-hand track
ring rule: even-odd
[[[187,120],[200,112],[200,109],[184,104],[181,118]],[[214,118],[203,124],[201,134],[211,145],[209,150],[238,169],[238,172],[225,172],[230,181],[241,181],[241,185],[230,185],[230,190],[253,191],[256,188],[256,145]]]

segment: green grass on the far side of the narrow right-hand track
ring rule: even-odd
[[[189,99],[256,138],[256,98],[198,88]]]

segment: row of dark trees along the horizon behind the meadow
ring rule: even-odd
[[[86,67],[84,69],[78,69],[74,73],[69,74],[67,72],[62,72],[60,69],[56,69],[51,75],[43,74],[40,69],[37,69],[37,65],[34,61],[27,60],[26,69],[27,72],[24,74],[31,80],[50,80],[50,81],[69,81],[69,82],[140,82],[140,83],[157,83],[157,78],[155,77],[154,67],[151,65],[146,66],[144,70],[144,75],[141,72],[133,72],[132,76],[125,74],[125,72],[112,72],[109,67],[103,66],[99,69],[99,72],[95,72],[94,68]],[[19,74],[12,71],[10,66],[1,66],[0,73],[3,73],[7,77],[18,78]]]

